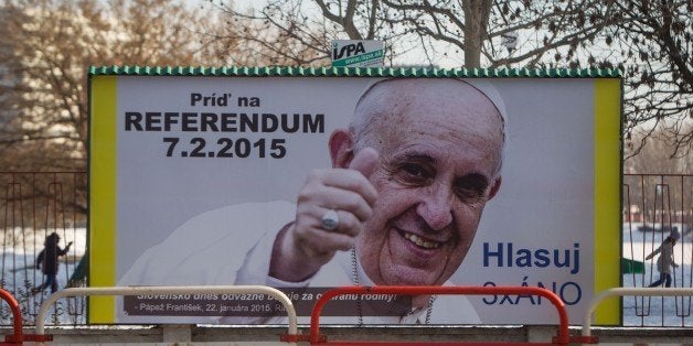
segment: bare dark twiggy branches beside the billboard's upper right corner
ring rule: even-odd
[[[626,1],[618,12],[622,19],[606,31],[618,54],[605,64],[627,76],[625,136],[631,155],[657,133],[667,144],[661,153],[686,158],[693,148],[693,2]]]

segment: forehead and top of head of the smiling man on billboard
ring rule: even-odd
[[[366,94],[352,122],[356,139],[370,137],[380,142],[371,145],[387,151],[418,139],[456,150],[480,147],[502,156],[505,133],[500,111],[486,94],[460,79],[384,79]]]

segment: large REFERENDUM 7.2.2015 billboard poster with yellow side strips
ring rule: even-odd
[[[90,285],[619,285],[620,79],[90,76]],[[533,296],[343,296],[323,323],[555,324]],[[618,302],[596,322],[619,323]],[[281,323],[263,295],[92,323]]]

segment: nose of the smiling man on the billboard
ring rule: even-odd
[[[428,186],[420,196],[416,213],[433,230],[440,230],[452,223],[451,197],[450,188],[445,184]]]

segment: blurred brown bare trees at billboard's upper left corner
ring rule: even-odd
[[[90,65],[214,62],[201,14],[167,0],[7,0],[0,6],[3,170],[85,170]]]

